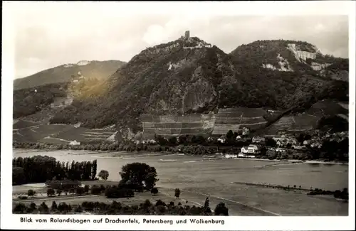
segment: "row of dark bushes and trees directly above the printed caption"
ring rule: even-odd
[[[224,203],[216,205],[214,213],[212,213],[209,203],[204,206],[189,206],[182,205],[182,203],[175,205],[173,201],[164,203],[162,200],[157,200],[156,203],[145,200],[140,205],[131,206],[116,201],[112,201],[111,204],[84,201],[81,205],[57,204],[56,201],[53,201],[51,208],[48,208],[45,202],[41,205],[17,203],[13,208],[15,214],[67,214],[83,213],[83,211],[99,215],[229,215],[229,209]]]

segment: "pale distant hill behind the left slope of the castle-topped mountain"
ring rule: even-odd
[[[14,80],[14,90],[28,87],[36,87],[58,82],[68,82],[75,75],[83,75],[85,78],[104,80],[112,75],[125,62],[119,60],[107,61],[79,61],[60,65],[56,68],[43,70],[34,75]]]

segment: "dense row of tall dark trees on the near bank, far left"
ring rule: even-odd
[[[49,179],[68,178],[77,181],[91,181],[97,173],[97,161],[60,162],[50,156],[18,157],[12,161],[13,184],[43,183]]]

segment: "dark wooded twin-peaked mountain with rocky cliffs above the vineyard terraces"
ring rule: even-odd
[[[143,129],[143,114],[216,114],[229,107],[304,112],[323,99],[348,100],[345,78],[320,73],[331,67],[338,75],[337,65],[315,70],[311,62],[333,60],[344,62],[346,71],[348,60],[323,55],[306,42],[255,41],[226,54],[200,38],[180,38],[142,50],[50,122],[88,128],[115,124],[136,134]]]

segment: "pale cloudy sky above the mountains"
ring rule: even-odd
[[[186,30],[226,53],[241,44],[282,38],[348,57],[347,16],[129,15],[105,4],[33,4],[18,7],[14,18],[16,78],[79,60],[129,61]]]

